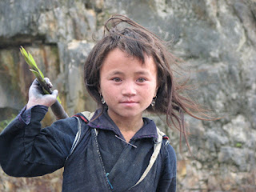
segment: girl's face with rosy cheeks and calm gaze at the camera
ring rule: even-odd
[[[100,93],[112,119],[140,118],[157,94],[157,66],[142,63],[118,48],[107,54],[100,70]]]

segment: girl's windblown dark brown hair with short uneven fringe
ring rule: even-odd
[[[119,29],[120,24],[129,26],[122,26],[122,29]],[[205,110],[200,108],[196,102],[182,95],[182,90],[186,90],[186,85],[180,85],[174,78],[172,66],[177,64],[177,58],[170,53],[166,42],[138,23],[119,14],[109,18],[104,27],[103,38],[91,50],[84,66],[84,82],[89,94],[102,107],[102,110],[106,107],[106,104],[101,102],[98,88],[100,69],[110,50],[118,48],[140,59],[142,63],[145,54],[152,56],[158,68],[158,93],[155,106],[149,106],[147,110],[154,114],[166,114],[167,125],[171,127],[173,124],[180,130],[188,145],[184,114],[198,119],[205,119],[199,117],[207,116],[204,114]]]

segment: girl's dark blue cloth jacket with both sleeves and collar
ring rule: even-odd
[[[41,129],[46,112],[44,106],[22,110],[0,134],[0,163],[6,174],[34,177],[64,166],[62,191],[175,191],[176,156],[165,139],[149,174],[134,186],[146,170],[158,138],[152,120],[143,118],[144,126],[130,140],[135,148],[122,141],[120,130],[106,112],[89,123],[77,114],[78,118],[58,120]],[[78,123],[82,132],[70,153]]]

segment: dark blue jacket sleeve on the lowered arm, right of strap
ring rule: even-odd
[[[176,173],[177,159],[174,148],[168,144],[166,146],[166,158],[163,163],[161,178],[158,182],[159,192],[175,192],[176,191]]]

